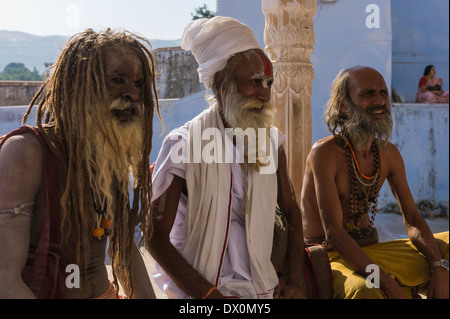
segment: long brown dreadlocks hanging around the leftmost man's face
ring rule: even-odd
[[[94,32],[88,29],[73,36],[62,48],[56,63],[49,69],[49,76],[33,97],[22,123],[26,125],[33,105],[39,101],[36,126],[46,143],[60,159],[63,181],[61,182],[61,245],[71,250],[75,262],[86,271],[86,243],[92,237],[93,193],[89,181],[89,168],[83,158],[86,150],[86,114],[96,105],[107,104],[108,91],[105,83],[104,58],[112,46],[131,48],[143,65],[145,83],[142,85],[143,100],[143,152],[138,163],[137,180],[134,181],[133,200],[117,191],[114,199],[116,212],[112,244],[112,270],[114,285],[118,288],[117,275],[131,282],[131,256],[138,221],[143,240],[148,241],[153,233],[150,200],[152,185],[149,156],[152,147],[154,109],[162,121],[155,86],[155,64],[151,45],[145,38],[127,31],[107,29]],[[98,117],[98,116],[97,116]],[[94,117],[93,117],[94,118]],[[105,123],[99,130],[106,134]],[[107,140],[114,140],[108,136]],[[120,187],[120,186],[119,186]],[[69,245],[70,240],[70,245]],[[74,245],[75,243],[75,245]],[[118,291],[118,289],[117,289]],[[131,297],[131,296],[129,296]]]

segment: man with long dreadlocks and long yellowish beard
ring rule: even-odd
[[[152,232],[148,161],[159,107],[149,49],[126,31],[77,34],[24,126],[2,138],[0,298],[114,298],[119,282],[128,297],[154,298],[135,244],[138,220]],[[38,101],[33,128],[26,120]]]

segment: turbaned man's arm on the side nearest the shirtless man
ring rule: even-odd
[[[275,299],[305,298],[303,263],[304,249],[302,216],[300,213],[294,189],[287,173],[286,154],[281,147],[278,152],[278,170],[280,173],[280,208],[285,213],[289,224],[288,251],[286,261],[286,284],[274,293]]]

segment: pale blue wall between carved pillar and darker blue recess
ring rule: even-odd
[[[313,143],[329,135],[322,120],[331,83],[341,69],[366,65],[378,70],[388,88],[391,82],[390,0],[317,2],[315,44],[311,62],[315,72],[311,96]],[[378,8],[379,27],[369,28],[370,5]],[[369,12],[366,12],[368,10]],[[369,24],[369,26],[371,26]]]

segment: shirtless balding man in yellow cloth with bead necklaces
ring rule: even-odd
[[[325,120],[332,136],[315,143],[308,157],[301,209],[306,242],[330,249],[334,297],[407,298],[428,284],[428,298],[448,298],[448,231],[433,237],[416,208],[402,156],[389,142],[381,74],[368,67],[341,71]],[[373,223],[386,179],[409,240],[377,243]]]

